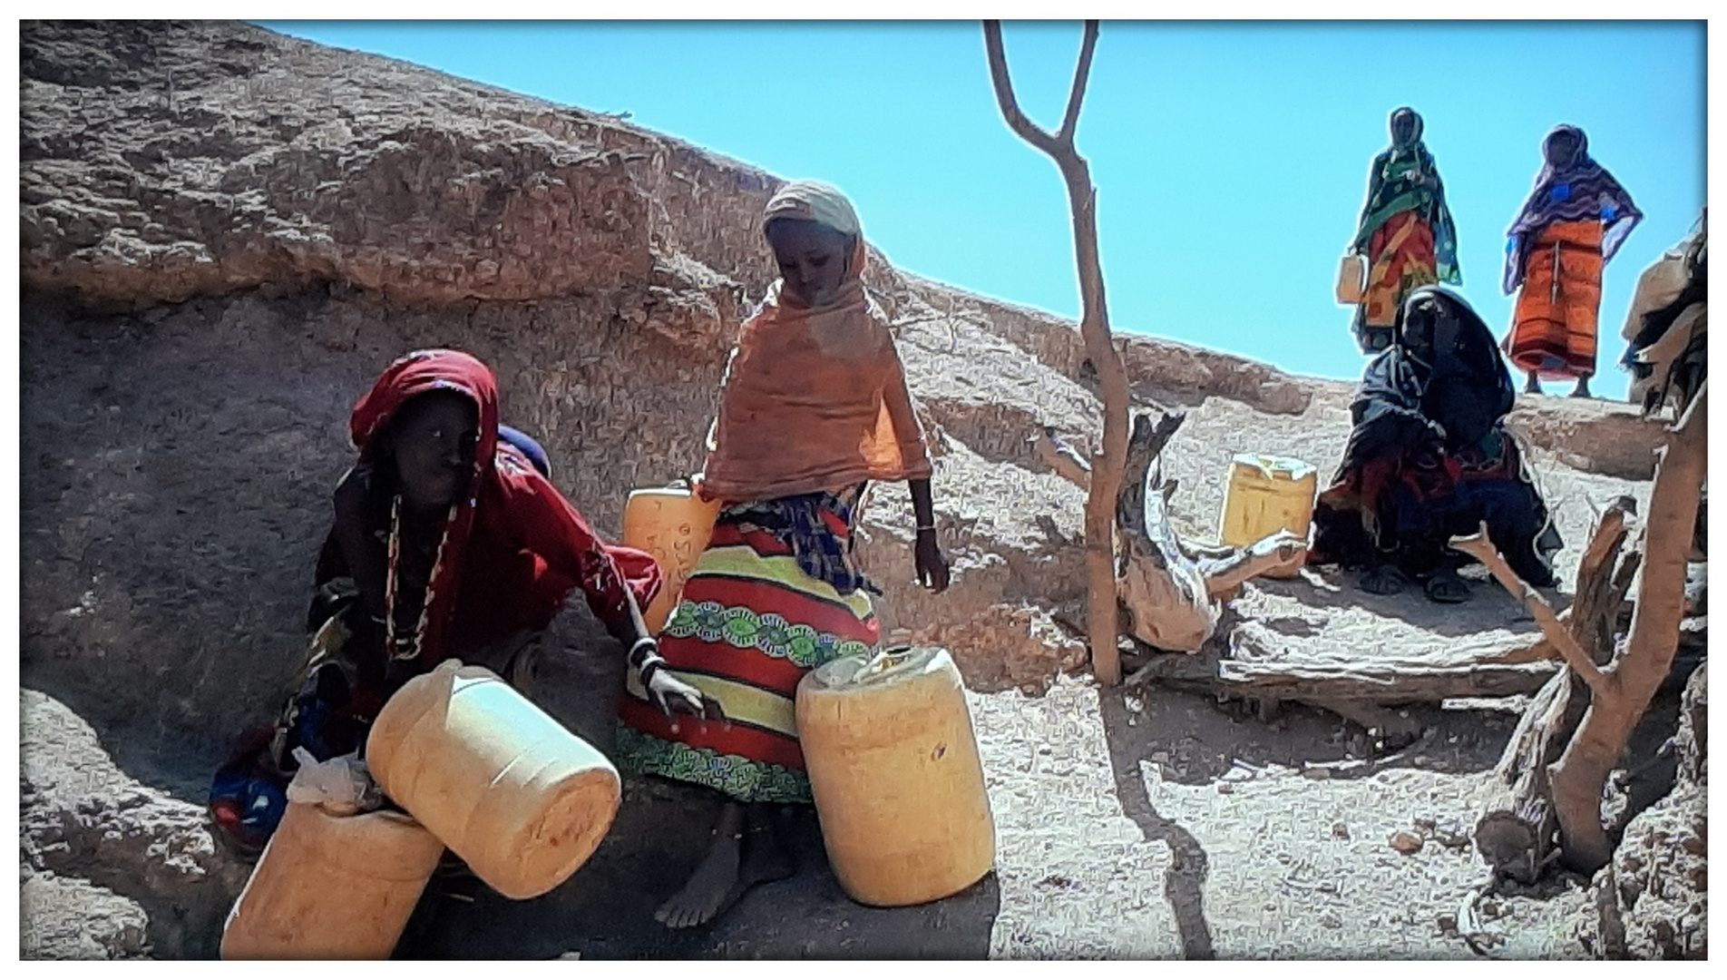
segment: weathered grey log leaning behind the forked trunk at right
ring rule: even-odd
[[[1613,620],[1629,582],[1625,569],[1637,567],[1635,551],[1620,560],[1627,536],[1625,517],[1634,512],[1632,498],[1618,498],[1596,520],[1589,548],[1577,567],[1575,598],[1565,617],[1572,638],[1597,665],[1613,655]],[[1620,572],[1615,574],[1615,569]],[[1563,667],[1518,719],[1494,769],[1494,790],[1475,823],[1475,849],[1496,873],[1532,883],[1554,854],[1559,824],[1547,766],[1572,738],[1587,703],[1587,688],[1573,671]]]

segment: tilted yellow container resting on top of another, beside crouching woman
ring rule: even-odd
[[[511,899],[542,895],[599,847],[618,771],[485,667],[439,664],[366,738],[378,786]]]

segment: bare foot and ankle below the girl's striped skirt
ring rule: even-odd
[[[748,826],[746,816],[751,818]],[[667,928],[698,926],[732,907],[750,888],[791,875],[791,857],[774,833],[772,811],[751,805],[746,812],[743,804],[727,800],[708,854],[653,918]]]

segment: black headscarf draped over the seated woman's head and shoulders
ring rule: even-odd
[[[1404,299],[1392,346],[1361,379],[1342,468],[1394,453],[1473,446],[1515,399],[1511,373],[1480,315],[1456,292],[1423,285]]]

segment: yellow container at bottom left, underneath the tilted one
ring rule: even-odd
[[[408,814],[288,804],[221,930],[223,959],[389,959],[444,845]]]

